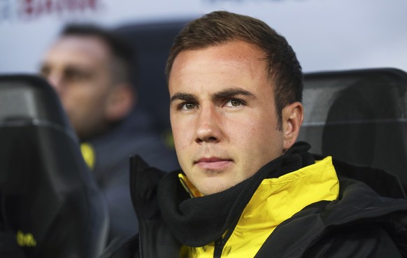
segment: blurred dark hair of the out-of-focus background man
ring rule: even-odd
[[[114,34],[95,24],[66,24],[60,36],[84,36],[99,38],[109,48],[113,57],[111,64],[115,83],[128,83],[134,66],[133,52],[127,43]]]

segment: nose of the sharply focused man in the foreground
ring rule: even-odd
[[[220,113],[214,107],[201,108],[197,117],[196,143],[217,143],[222,136]]]

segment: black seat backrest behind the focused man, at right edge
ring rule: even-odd
[[[399,69],[306,73],[298,141],[317,154],[385,169],[407,189],[406,91]]]

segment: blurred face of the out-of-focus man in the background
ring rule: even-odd
[[[110,53],[99,38],[64,36],[46,53],[41,73],[59,95],[79,138],[106,127]]]

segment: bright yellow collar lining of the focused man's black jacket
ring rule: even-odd
[[[254,257],[280,223],[311,203],[336,200],[338,192],[331,157],[279,178],[264,179],[224,244],[222,256],[233,252],[234,257]],[[186,249],[187,257],[213,257],[215,245]]]

